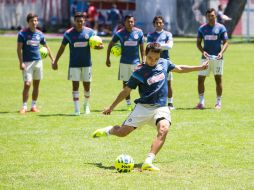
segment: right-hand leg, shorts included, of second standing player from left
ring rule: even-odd
[[[89,98],[91,93],[92,67],[82,67],[81,80],[83,81],[84,87],[84,112],[85,114],[90,114]]]

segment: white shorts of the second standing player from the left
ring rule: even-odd
[[[91,82],[92,67],[69,67],[68,80]]]

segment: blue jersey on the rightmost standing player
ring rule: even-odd
[[[221,51],[221,43],[228,39],[228,34],[222,24],[215,23],[214,26],[204,24],[199,27],[197,38],[204,40],[204,51],[210,55],[218,55]]]

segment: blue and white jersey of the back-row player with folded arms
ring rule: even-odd
[[[168,41],[173,41],[173,37],[171,32],[168,31],[161,31],[161,32],[152,32],[147,34],[147,42],[157,42],[160,44],[166,44]],[[163,50],[161,52],[161,58],[164,59],[170,59],[169,51],[168,50]]]

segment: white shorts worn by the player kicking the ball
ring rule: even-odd
[[[165,118],[171,123],[171,116],[168,106],[154,107],[147,104],[137,104],[123,125],[141,127],[145,124],[156,126],[159,118]]]

